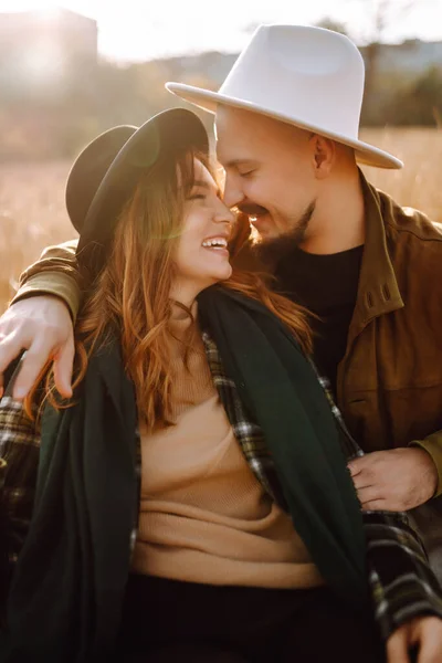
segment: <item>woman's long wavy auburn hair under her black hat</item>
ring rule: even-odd
[[[178,160],[178,167],[177,161],[164,159],[140,178],[119,215],[105,267],[93,282],[75,326],[74,388],[85,376],[91,352],[106,344],[110,332],[117,332],[125,369],[135,386],[139,417],[148,431],[158,423],[168,424],[168,322],[172,305],[169,295],[185,202],[194,180],[194,156],[213,175],[207,159],[187,154]],[[90,280],[87,274],[84,277]],[[234,271],[221,285],[262,302],[292,329],[306,352],[312,350],[305,311],[273,293],[262,276]],[[46,396],[61,407],[51,372]]]

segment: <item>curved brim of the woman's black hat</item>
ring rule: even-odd
[[[189,149],[209,154],[209,137],[200,118],[186,108],[170,108],[137,128],[112,161],[87,210],[77,255],[86,248],[104,245],[129,200],[141,173],[160,157],[177,158]]]

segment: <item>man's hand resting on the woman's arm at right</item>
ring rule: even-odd
[[[409,511],[431,499],[438,487],[438,470],[420,448],[367,453],[348,469],[359,502],[369,511]]]

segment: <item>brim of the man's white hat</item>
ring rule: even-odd
[[[330,138],[337,143],[347,145],[348,147],[352,147],[357,161],[366,166],[390,169],[400,169],[403,167],[403,162],[400,159],[368,143],[351,139],[347,136],[335,134],[334,131],[327,131],[327,129],[324,127],[308,124],[305,120],[296,117],[274,113],[244,99],[231,97],[220,94],[219,92],[204,90],[202,87],[194,87],[193,85],[186,85],[183,83],[169,82],[166,83],[166,88],[186,102],[189,102],[190,104],[193,104],[203,110],[208,110],[209,113],[217,113],[218,105],[222,104],[223,106],[231,106],[233,108],[242,108],[244,110],[251,110],[252,113],[259,113],[260,115],[265,115],[266,117],[272,117],[273,119],[294,125],[301,129],[315,131],[315,134],[319,134],[320,136],[325,136],[326,138]]]

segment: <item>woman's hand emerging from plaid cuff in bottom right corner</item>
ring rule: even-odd
[[[442,661],[442,620],[420,617],[400,627],[387,642],[388,663],[410,663],[410,649],[418,652],[417,663]]]

